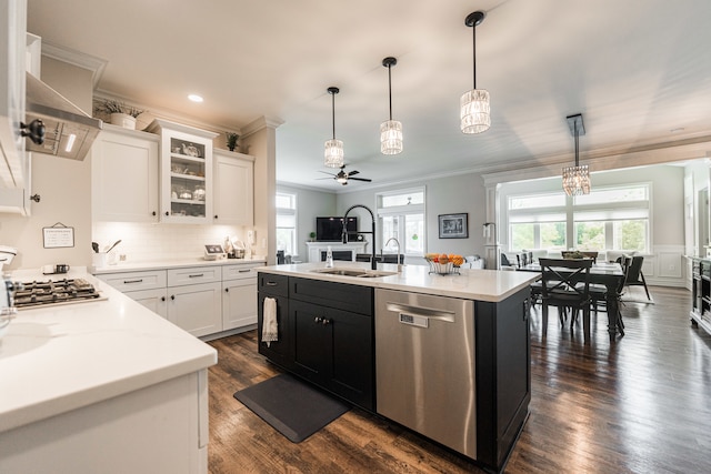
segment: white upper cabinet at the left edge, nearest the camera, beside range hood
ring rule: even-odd
[[[29,183],[24,159],[24,70],[27,1],[0,2],[0,188],[22,189]]]

